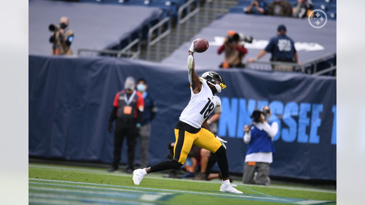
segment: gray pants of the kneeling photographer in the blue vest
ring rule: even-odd
[[[253,163],[253,162],[251,162]],[[257,171],[256,179],[254,179],[255,172]],[[255,162],[254,165],[245,163],[243,167],[243,183],[270,185],[270,166],[269,163]]]

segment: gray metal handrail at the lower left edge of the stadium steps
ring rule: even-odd
[[[162,32],[162,26],[164,26],[164,24],[168,22],[168,28],[163,32]],[[157,36],[156,38],[154,38],[152,40],[153,37],[153,32],[157,30]],[[158,41],[160,41],[162,38],[164,38],[166,35],[168,35],[171,32],[171,18],[169,16],[167,16],[166,18],[162,19],[160,22],[158,22],[156,25],[154,25],[153,27],[151,27],[148,30],[148,36],[147,36],[147,56],[146,59],[150,60],[150,53],[151,53],[151,46],[155,45]],[[157,46],[157,51],[156,51],[156,55],[155,58],[157,59],[157,57],[160,55],[160,46]]]

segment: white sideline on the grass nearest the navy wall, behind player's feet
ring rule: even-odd
[[[74,173],[79,174],[98,174],[98,175],[112,175],[112,176],[122,176],[122,177],[132,177],[132,174],[126,173],[107,173],[106,171],[100,170],[91,170],[91,169],[80,169],[80,168],[71,168],[71,167],[59,167],[53,165],[29,165],[32,168],[42,168],[42,169],[51,169],[51,170],[69,170],[73,171]],[[154,177],[151,175],[147,175],[146,178],[151,179],[164,179],[164,180],[172,180],[172,181],[187,181],[186,179],[174,179],[174,178],[161,178],[161,177]],[[214,183],[220,184],[220,181],[196,181],[198,183]],[[235,182],[236,183],[236,182]],[[251,185],[251,184],[243,184],[242,182],[237,183],[238,186],[253,186],[253,187],[264,187],[263,185]],[[281,185],[270,185],[265,186],[267,188],[274,188],[274,189],[286,189],[286,190],[300,190],[300,191],[308,191],[308,192],[322,192],[322,193],[337,193],[335,190],[327,190],[327,189],[318,189],[318,188],[304,188],[304,187],[296,187],[296,186],[281,186]]]

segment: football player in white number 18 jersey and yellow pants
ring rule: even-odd
[[[188,106],[184,109],[175,125],[175,146],[174,157],[165,160],[145,169],[137,169],[133,172],[133,182],[135,185],[141,183],[142,178],[151,173],[169,169],[179,169],[183,166],[190,148],[193,144],[213,152],[217,156],[217,162],[222,173],[221,192],[239,193],[229,181],[228,160],[226,156],[226,141],[218,138],[210,131],[207,120],[216,106],[220,106],[220,99],[215,93],[220,93],[226,85],[223,78],[216,72],[206,72],[200,78],[194,67],[195,53],[194,43],[192,42],[188,56],[188,77],[191,89],[191,98]]]

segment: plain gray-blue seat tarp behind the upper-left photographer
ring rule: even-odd
[[[111,4],[70,3],[64,1],[29,1],[29,54],[50,55],[51,32],[48,26],[68,16],[75,33],[71,49],[107,49],[160,18],[157,7]]]

